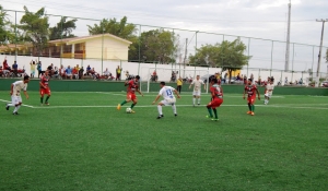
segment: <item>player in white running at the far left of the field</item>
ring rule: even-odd
[[[13,115],[19,115],[19,109],[22,105],[21,91],[24,91],[24,95],[26,99],[28,99],[27,83],[30,82],[30,76],[25,75],[23,81],[16,81],[11,84],[10,95],[11,95],[11,104],[5,105],[5,109],[9,110],[10,106],[15,107],[13,110]]]

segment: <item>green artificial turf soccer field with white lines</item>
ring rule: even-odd
[[[273,94],[251,117],[242,94],[211,121],[206,94],[156,119],[155,93],[126,114],[124,92],[30,92],[13,116],[0,92],[0,190],[327,190],[328,97]]]

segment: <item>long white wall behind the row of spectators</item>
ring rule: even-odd
[[[0,56],[0,60],[2,61],[5,56]],[[7,56],[8,62],[11,65],[13,61],[15,60],[14,56]],[[37,60],[36,57],[25,57],[25,56],[17,56],[17,64],[19,68],[25,67],[26,73],[30,74],[30,62],[31,60]],[[39,58],[43,62],[43,70],[45,70],[50,63],[54,63],[55,67],[59,67],[60,64],[63,64],[63,67],[68,65],[77,65],[86,68],[86,65],[91,65],[91,68],[95,68],[97,72],[105,71],[106,68],[116,75],[115,69],[117,65],[120,65],[122,68],[122,73],[126,71],[129,71],[130,74],[139,74],[143,81],[147,81],[153,70],[156,68],[159,81],[169,81],[172,71],[179,71],[180,75],[184,76],[191,76],[194,77],[196,74],[204,75],[208,73],[214,74],[215,72],[221,72],[221,69],[219,68],[200,68],[200,67],[186,67],[186,70],[184,72],[184,65],[179,64],[154,64],[154,63],[138,63],[138,62],[128,62],[128,61],[119,61],[119,60],[101,60],[101,59],[60,59],[60,58]],[[224,74],[225,72],[223,72]],[[241,71],[241,74],[247,75],[248,77],[250,74],[254,74],[255,80],[257,80],[259,76],[261,76],[262,80],[267,79],[270,75],[270,71],[268,70],[255,70],[247,68],[243,69]],[[301,77],[303,77],[304,82],[307,84],[307,79],[309,77],[308,73],[290,73],[290,72],[282,72],[282,71],[272,71],[271,75],[274,76],[276,83],[281,79],[282,84],[284,84],[284,79],[288,77],[289,82],[294,82],[295,80],[300,81]],[[122,76],[125,79],[125,76]]]

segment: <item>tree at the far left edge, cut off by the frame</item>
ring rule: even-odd
[[[7,19],[7,12],[0,5],[0,44],[5,45],[13,41],[14,34],[11,28],[11,23]]]

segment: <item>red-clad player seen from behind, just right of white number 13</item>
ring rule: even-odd
[[[209,116],[207,118],[211,118],[213,121],[218,121],[218,111],[216,107],[220,107],[223,103],[223,93],[220,85],[218,85],[218,79],[213,77],[210,83],[210,92],[211,92],[211,102],[207,105]],[[212,110],[214,111],[214,118],[212,115]]]

